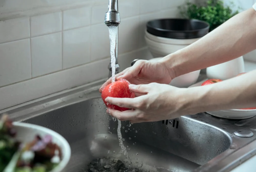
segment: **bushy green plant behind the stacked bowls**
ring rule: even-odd
[[[234,3],[231,3],[231,5],[234,5]],[[224,6],[222,0],[207,0],[207,2],[202,5],[186,2],[185,5],[180,6],[179,9],[182,18],[197,19],[209,23],[209,31],[214,30],[239,13],[238,10],[233,12],[230,6]]]

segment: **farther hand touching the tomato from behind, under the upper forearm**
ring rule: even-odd
[[[126,68],[123,72],[116,74],[115,80],[126,79],[131,84],[164,83],[169,84],[174,78],[167,66],[162,61],[138,60],[132,67]],[[99,89],[111,83],[109,78]]]

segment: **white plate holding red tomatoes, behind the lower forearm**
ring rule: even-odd
[[[191,87],[199,87],[202,85],[204,81],[207,79],[195,83],[194,85],[191,85]],[[239,120],[239,119],[247,119],[256,116],[256,109],[251,110],[243,110],[243,109],[229,109],[229,110],[217,110],[217,111],[211,111],[207,112],[210,115],[217,116],[220,118],[226,118],[226,119],[233,119],[233,120]]]

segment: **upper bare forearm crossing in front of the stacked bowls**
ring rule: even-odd
[[[227,62],[256,49],[255,27],[256,11],[246,10],[162,62],[175,77]]]

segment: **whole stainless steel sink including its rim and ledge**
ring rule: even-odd
[[[117,121],[105,114],[98,93],[102,83],[87,84],[0,113],[64,136],[72,150],[65,172],[87,172],[89,162],[106,156],[131,161],[134,167],[150,172],[229,172],[256,154],[255,117],[226,120],[200,113],[133,125],[122,122],[129,159],[119,146]],[[248,133],[253,136],[246,137]]]

